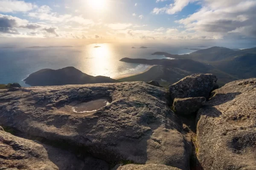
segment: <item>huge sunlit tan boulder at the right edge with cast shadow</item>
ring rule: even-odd
[[[198,160],[205,170],[256,170],[256,78],[212,92],[198,111]]]

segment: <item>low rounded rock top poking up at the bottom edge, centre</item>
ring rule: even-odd
[[[119,167],[117,170],[180,170],[175,167],[169,167],[161,164],[145,164],[145,165],[136,165],[128,164],[125,166]]]

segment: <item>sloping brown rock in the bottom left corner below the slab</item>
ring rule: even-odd
[[[40,144],[0,130],[0,169],[58,170]]]

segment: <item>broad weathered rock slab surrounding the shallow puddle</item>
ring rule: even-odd
[[[169,91],[143,82],[0,90],[0,124],[30,136],[68,142],[108,162],[165,164],[189,169],[191,141],[167,105]],[[96,99],[92,112],[74,108]]]

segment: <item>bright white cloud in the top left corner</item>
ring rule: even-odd
[[[0,12],[26,12],[36,7],[32,3],[19,0],[0,0]]]

